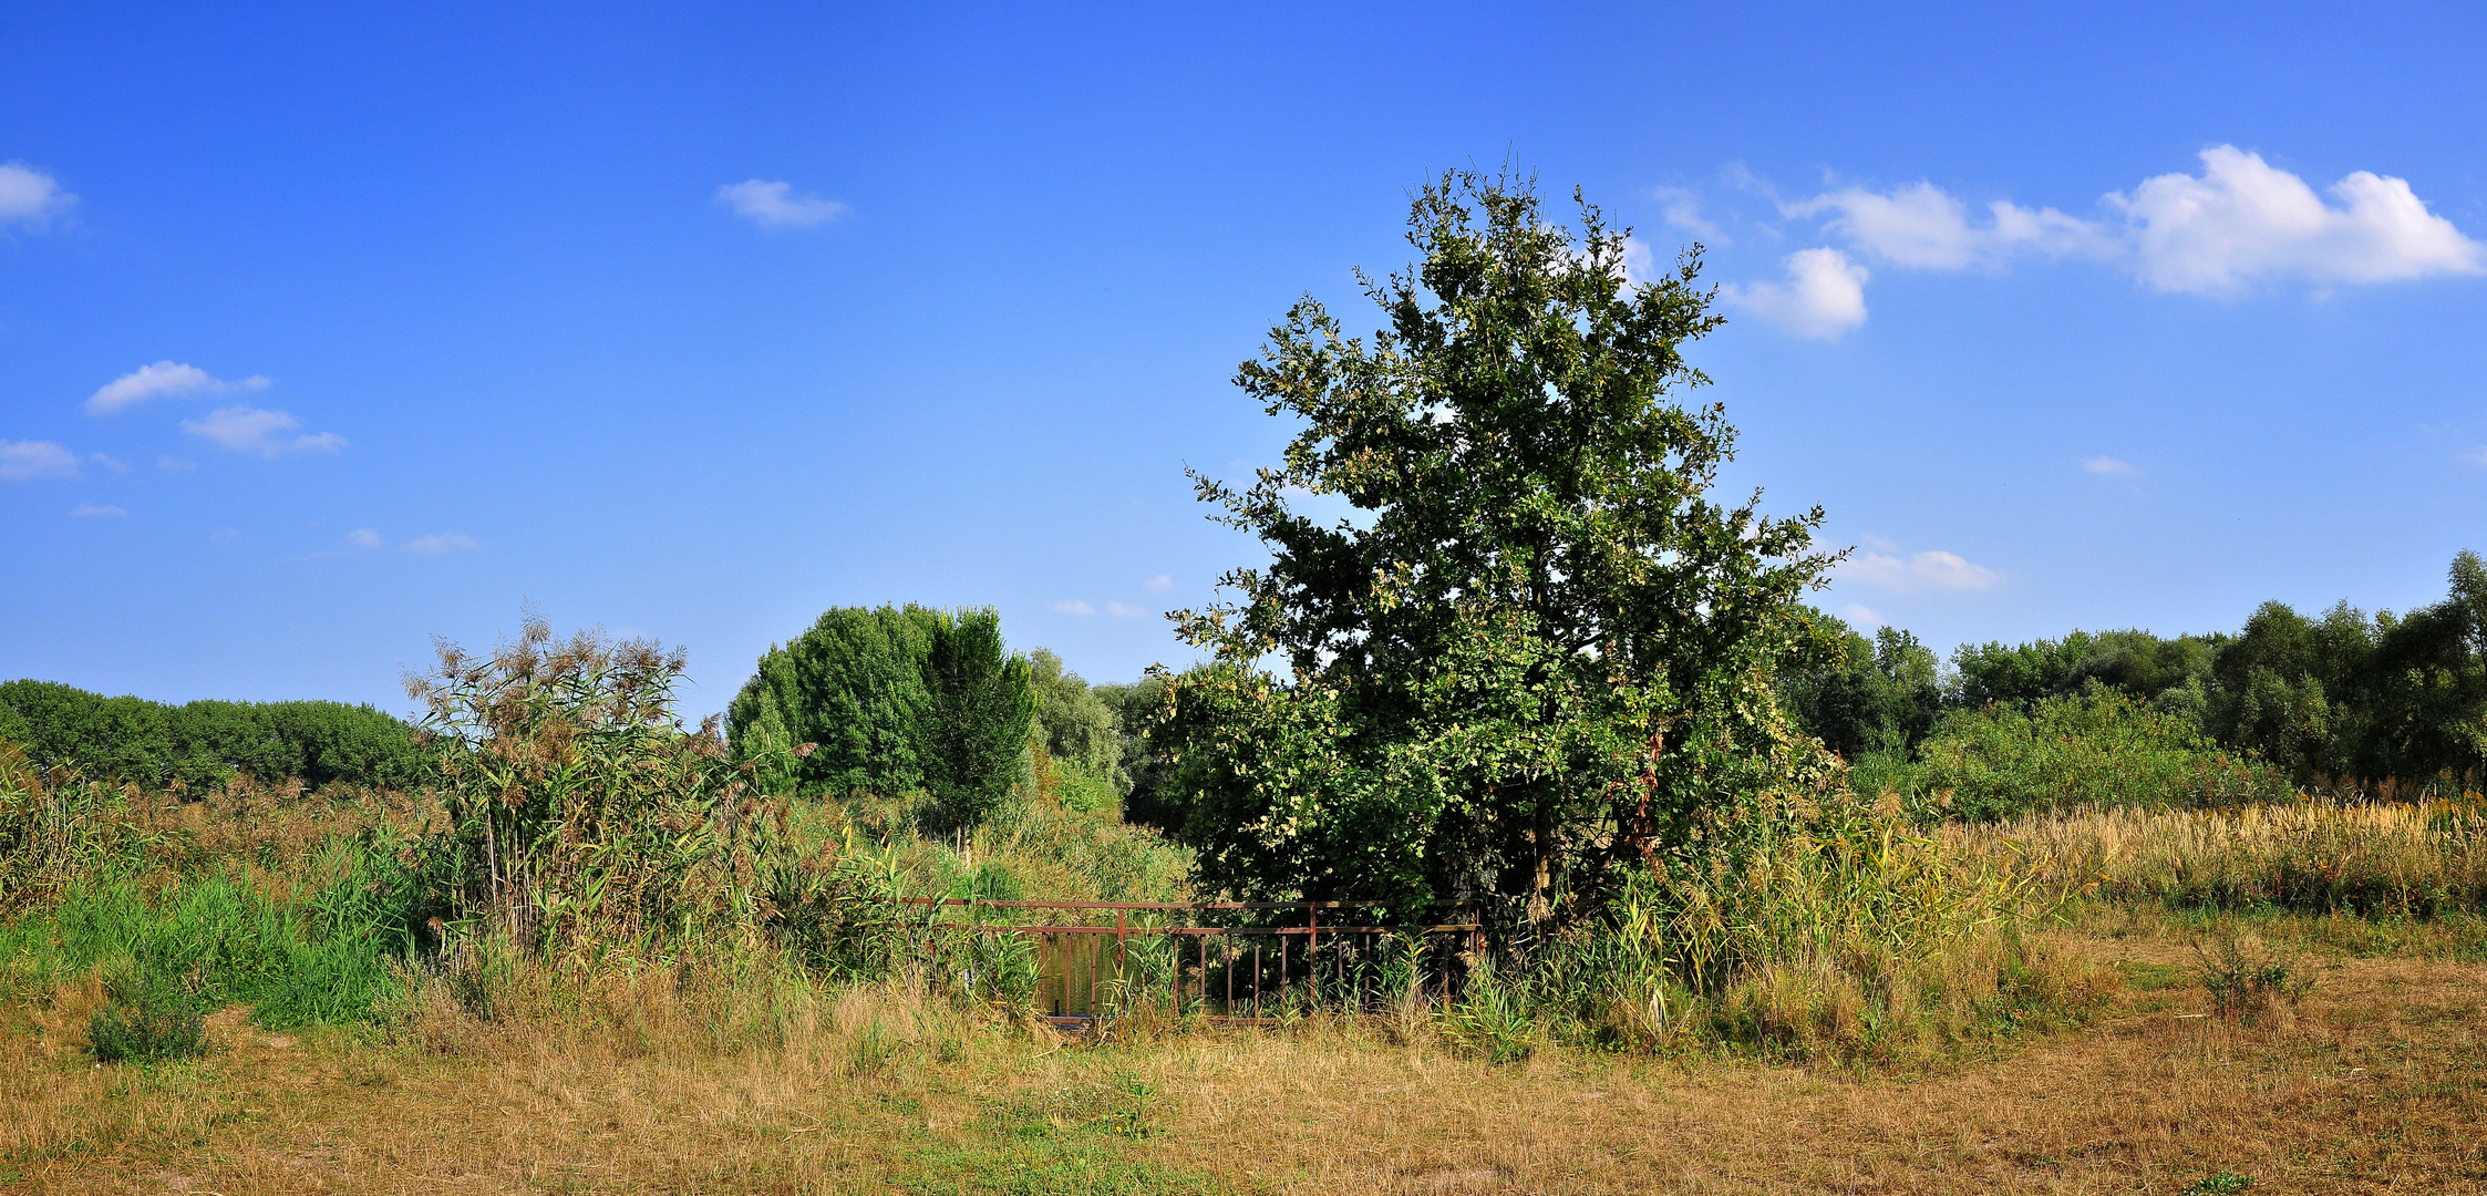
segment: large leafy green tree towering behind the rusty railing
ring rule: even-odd
[[[1363,278],[1370,341],[1303,298],[1241,366],[1301,430],[1251,485],[1196,485],[1271,562],[1176,614],[1214,661],[1154,734],[1211,885],[1542,918],[1823,781],[1773,674],[1828,649],[1798,599],[1835,557],[1820,510],[1711,495],[1733,430],[1679,400],[1721,323],[1699,246],[1631,283],[1594,206],[1564,229],[1480,174],[1425,186],[1408,239],[1415,269]]]

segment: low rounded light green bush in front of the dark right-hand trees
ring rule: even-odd
[[[2032,706],[1947,711],[1917,761],[1873,761],[1855,783],[1898,788],[1920,813],[1995,821],[2106,806],[2236,806],[2288,798],[2288,778],[2208,741],[2201,724],[2119,689]]]

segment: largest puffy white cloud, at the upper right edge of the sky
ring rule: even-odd
[[[2201,174],[2161,174],[2111,194],[2129,221],[2134,274],[2159,291],[2231,293],[2261,281],[2388,283],[2487,271],[2487,246],[2427,211],[2407,179],[2355,172],[2338,206],[2305,179],[2233,144],[2201,152]]]

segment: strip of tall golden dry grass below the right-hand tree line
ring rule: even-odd
[[[2405,918],[2487,910],[2487,808],[2475,798],[2029,816],[1985,840],[2027,843],[2062,878],[2119,900]]]

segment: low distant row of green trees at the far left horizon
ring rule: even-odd
[[[25,748],[37,768],[75,766],[97,781],[149,788],[219,786],[229,776],[261,783],[301,778],[403,786],[420,753],[413,729],[341,701],[189,701],[107,699],[55,681],[0,684],[0,741]]]

